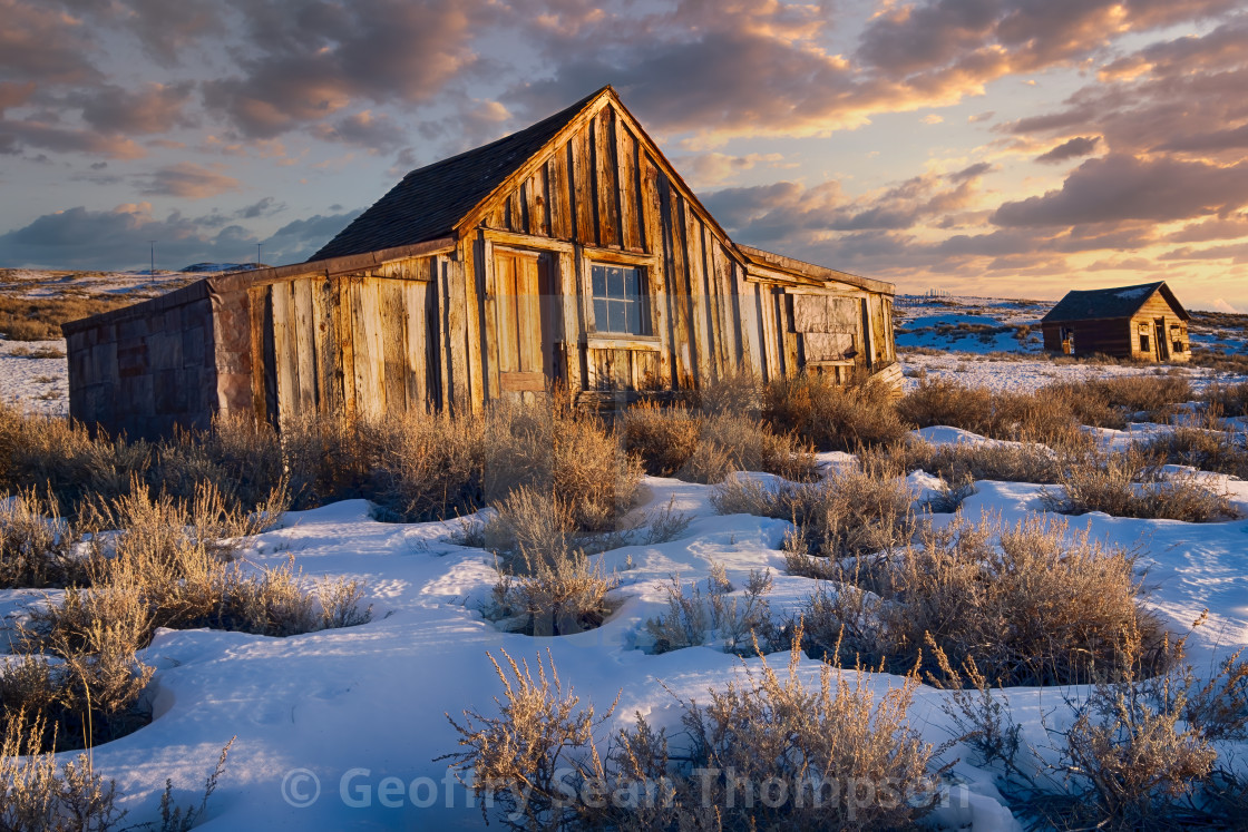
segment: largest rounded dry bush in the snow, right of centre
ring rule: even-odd
[[[834,590],[806,609],[812,654],[855,651],[894,671],[973,662],[998,685],[1070,685],[1121,671],[1132,634],[1149,649],[1158,625],[1139,607],[1134,558],[1065,523],[1033,516],[1002,529],[957,518],[887,560],[841,564]],[[1152,671],[1164,657],[1146,656]]]

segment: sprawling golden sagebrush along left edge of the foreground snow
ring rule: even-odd
[[[14,637],[20,657],[0,675],[6,718],[26,713],[59,742],[86,747],[146,722],[140,696],[152,670],[135,659],[157,627],[291,635],[368,620],[354,581],[319,581],[292,569],[251,570],[235,560],[245,538],[275,518],[223,508],[211,484],[192,501],[134,491],[100,509],[82,585],[34,607]]]

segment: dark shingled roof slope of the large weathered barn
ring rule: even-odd
[[[532,127],[412,171],[308,262],[451,236],[456,223],[478,202],[609,89],[603,87]]]

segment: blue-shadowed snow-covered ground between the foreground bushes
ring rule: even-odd
[[[953,429],[926,429],[930,442],[977,440]],[[830,465],[845,464],[830,454]],[[761,476],[761,475],[760,475]],[[922,485],[922,475],[914,475]],[[1248,483],[1224,481],[1248,509]],[[1006,524],[1041,511],[1040,486],[980,481],[962,506],[970,518],[991,513]],[[613,725],[635,712],[679,731],[683,699],[706,700],[709,689],[738,679],[743,661],[714,645],[654,655],[645,646],[646,619],[665,610],[663,584],[673,574],[705,581],[724,564],[741,588],[751,569],[775,576],[770,601],[776,614],[794,609],[815,581],[784,571],[779,546],[786,521],[749,515],[719,516],[711,486],[648,478],[640,509],[673,506],[693,518],[679,540],[634,545],[600,555],[619,570],[619,609],[607,622],[572,636],[535,639],[500,631],[484,620],[495,575],[492,558],[453,543],[456,524],[384,524],[369,518],[364,500],[290,513],[281,528],[256,539],[243,556],[257,566],[293,559],[308,578],[347,575],[368,586],[369,624],[288,639],[210,630],[161,631],[144,659],[158,671],[151,687],[155,718],[137,732],[99,746],[97,771],[116,778],[131,810],[130,821],[158,811],[165,777],[183,802],[195,797],[222,745],[237,736],[226,775],[210,803],[205,830],[369,830],[482,828],[469,795],[434,757],[457,750],[446,713],[466,707],[489,711],[499,684],[487,659],[505,650],[533,662],[549,651],[565,684],[600,709],[619,695]],[[936,524],[952,515],[935,515]],[[1191,655],[1197,667],[1248,645],[1248,521],[1193,525],[1171,520],[1129,520],[1092,514],[1071,521],[1092,536],[1136,548],[1147,581],[1157,589],[1151,605],[1177,632],[1202,610],[1211,621],[1197,630]],[[4,606],[30,599],[6,593]],[[782,656],[773,662],[782,662]],[[758,660],[744,662],[756,667]],[[811,680],[819,662],[804,660]],[[901,680],[867,676],[882,692]],[[1067,699],[1081,689],[1011,689],[1006,699],[1026,741],[1052,741],[1041,726],[1068,718]],[[941,711],[946,694],[920,687],[911,725],[932,743],[951,737]],[[604,726],[602,738],[609,733]],[[1239,763],[1243,765],[1242,747]],[[947,828],[1017,828],[992,776],[960,758],[947,783],[947,806],[936,818]],[[966,826],[972,825],[972,826]]]

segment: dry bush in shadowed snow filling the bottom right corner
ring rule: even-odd
[[[1038,765],[1016,762],[1020,726],[973,665],[976,692],[956,692],[945,710],[963,732],[960,740],[986,752],[985,765],[1002,765],[1002,792],[1055,828],[1239,828],[1248,783],[1218,760],[1234,753],[1229,741],[1244,737],[1248,662],[1236,654],[1203,680],[1182,661],[1184,641],[1166,646],[1169,672],[1148,677],[1147,665],[1119,662],[1090,695],[1067,699],[1070,727],[1045,725],[1053,762],[1036,748],[1030,751]],[[1139,647],[1126,645],[1133,655]]]

